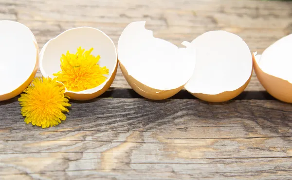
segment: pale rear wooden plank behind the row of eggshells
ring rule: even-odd
[[[40,48],[59,33],[91,26],[115,44],[132,21],[146,20],[155,37],[180,46],[211,30],[239,35],[262,53],[292,33],[292,2],[258,0],[0,0],[0,19],[18,20],[36,35]],[[38,72],[37,76],[41,76]],[[120,71],[112,87],[129,88]],[[264,90],[254,75],[246,91]]]

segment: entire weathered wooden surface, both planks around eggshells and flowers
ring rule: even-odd
[[[39,47],[73,27],[104,31],[117,44],[132,21],[180,46],[210,30],[239,35],[262,53],[292,33],[292,2],[260,0],[0,0]],[[41,76],[40,73],[37,76]],[[120,70],[109,91],[72,101],[67,120],[27,125],[17,97],[0,102],[0,180],[291,180],[292,106],[253,76],[235,100],[206,103],[186,91],[142,99]]]

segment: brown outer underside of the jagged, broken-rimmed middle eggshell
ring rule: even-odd
[[[144,98],[147,98],[149,100],[165,100],[167,98],[170,98],[177,94],[180,90],[183,89],[183,86],[180,86],[176,89],[171,90],[159,90],[159,89],[153,89],[145,84],[142,84],[132,76],[128,75],[128,71],[126,70],[125,66],[119,61],[121,71],[127,80],[128,84],[131,86],[131,88],[138,93],[139,95],[143,96]]]

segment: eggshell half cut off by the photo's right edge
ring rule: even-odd
[[[277,40],[262,55],[254,53],[256,77],[275,99],[292,103],[292,34]]]

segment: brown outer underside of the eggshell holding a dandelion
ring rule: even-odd
[[[115,79],[115,76],[117,74],[117,70],[118,70],[118,63],[116,64],[116,67],[115,67],[114,71],[112,72],[110,79],[105,84],[105,86],[101,90],[96,91],[95,93],[77,94],[77,93],[72,93],[72,92],[66,92],[65,95],[69,96],[70,99],[72,99],[72,100],[91,100],[93,98],[96,98],[96,97],[102,95],[104,92],[106,92],[110,88],[110,85],[112,84],[112,82]]]

